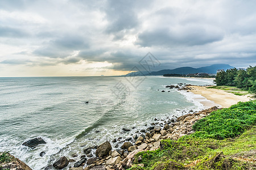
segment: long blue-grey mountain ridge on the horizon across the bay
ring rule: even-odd
[[[148,74],[147,72],[133,72],[129,73],[127,75],[134,76],[134,75],[164,75],[164,74],[190,74],[190,73],[208,73],[208,74],[216,74],[217,70],[228,70],[232,69],[234,67],[226,64],[214,64],[206,67],[199,67],[197,69],[193,67],[179,67],[177,69],[166,69],[166,70],[160,70],[160,71],[154,71]]]

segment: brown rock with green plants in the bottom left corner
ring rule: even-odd
[[[0,169],[11,169],[11,170],[32,170],[30,167],[28,167],[27,164],[23,163],[21,160],[18,158],[15,158],[13,155],[6,153],[6,152],[0,152],[0,155],[6,154],[10,156],[11,161],[8,163],[2,163],[0,160]]]

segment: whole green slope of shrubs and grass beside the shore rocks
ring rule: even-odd
[[[193,129],[177,141],[162,140],[161,149],[139,152],[130,170],[256,169],[250,162],[256,155],[256,100],[214,111]]]

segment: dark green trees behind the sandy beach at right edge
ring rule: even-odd
[[[243,69],[222,70],[214,80],[217,86],[236,86],[248,90],[256,95],[256,66]]]

